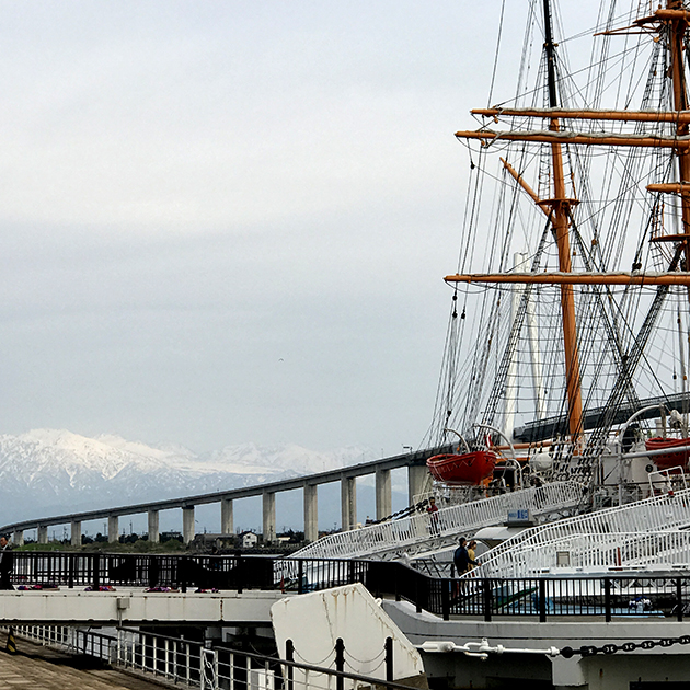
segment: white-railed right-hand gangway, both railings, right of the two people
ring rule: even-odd
[[[690,564],[690,533],[677,531],[687,527],[690,490],[653,496],[525,530],[486,552],[465,577],[533,575],[556,566],[559,551],[568,551],[575,567]]]

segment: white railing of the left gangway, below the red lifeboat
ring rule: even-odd
[[[300,549],[291,557],[356,559],[401,551],[460,534],[468,537],[481,527],[501,525],[510,510],[530,510],[543,515],[575,508],[583,499],[583,486],[576,482],[554,482],[545,486],[481,498],[462,505],[440,508],[433,517],[414,515],[400,520],[369,525],[319,539]]]

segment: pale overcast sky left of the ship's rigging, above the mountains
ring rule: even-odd
[[[501,4],[0,0],[0,433],[417,446]]]

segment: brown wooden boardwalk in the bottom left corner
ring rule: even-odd
[[[0,635],[4,647],[7,635]],[[16,640],[18,653],[0,652],[0,688],[11,690],[160,690],[149,682],[104,666],[97,659],[72,657]]]

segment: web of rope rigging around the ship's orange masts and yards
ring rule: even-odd
[[[542,3],[545,14],[541,12]],[[671,67],[667,24],[659,23],[654,41],[649,39],[647,28],[637,34],[622,31],[616,35],[614,32],[631,26],[641,14],[634,10],[619,13],[616,2],[611,1],[601,7],[594,32],[580,31],[556,41],[551,36],[550,24],[563,34],[563,21],[556,11],[552,12],[550,21],[548,8],[549,3],[543,0],[529,3],[522,54],[516,66],[516,93],[511,100],[503,101],[502,106],[674,110],[675,96],[667,78]],[[490,103],[506,13],[504,1]],[[571,70],[568,47],[591,33],[601,35],[593,43],[586,66]],[[685,44],[688,45],[687,37]],[[686,50],[686,69],[690,70],[689,59]],[[538,85],[530,83],[532,81]],[[606,105],[605,100],[609,102]],[[495,119],[498,122],[501,115]],[[484,124],[485,120],[481,120],[480,128]],[[493,123],[488,125],[493,127]],[[608,122],[603,127],[596,119],[561,117],[559,126],[564,131],[610,131],[641,137],[674,137],[678,131],[676,123],[653,120]],[[521,115],[511,120],[510,127],[516,131],[545,128],[538,118]],[[537,198],[544,199],[544,204],[551,199],[552,146],[492,139],[488,145],[484,141],[475,148],[467,141],[470,170],[458,273],[515,271],[516,254],[527,256],[531,274],[559,269],[556,243],[550,241],[555,205],[549,206],[545,229],[537,230],[545,207],[540,208],[529,198],[522,183],[531,184]],[[488,156],[493,158],[497,150],[519,173],[507,174],[505,163],[501,174],[490,169]],[[672,196],[646,189],[647,184],[678,179],[674,157],[658,148],[601,149],[568,145],[562,145],[562,153],[567,195],[574,199],[568,202],[566,210],[573,272],[683,268],[682,245],[651,241],[663,234],[682,232],[678,226],[680,203]],[[494,193],[490,195],[492,181],[497,184],[492,185]],[[658,287],[651,291],[633,285],[621,289],[583,285],[573,291],[583,404],[585,409],[603,410],[582,456],[583,468],[578,472],[585,478],[591,473],[593,458],[600,455],[621,405],[634,409],[641,399],[663,398],[665,391],[677,391],[680,384],[677,366],[667,353],[672,348],[686,361],[688,345],[686,342],[683,348],[682,343],[688,334],[687,326],[678,322],[676,314],[682,302],[680,288]],[[447,428],[458,428],[473,436],[472,427],[476,422],[494,425],[502,414],[507,419],[508,399],[514,401],[510,404],[518,419],[533,419],[534,411],[541,405],[543,411],[539,414],[544,417],[567,419],[565,391],[573,381],[566,379],[573,368],[572,361],[566,361],[562,354],[559,325],[562,294],[557,287],[540,285],[496,286],[480,291],[455,284],[435,421],[429,429],[436,445],[442,442]],[[669,295],[678,299],[668,300]],[[514,300],[517,308],[511,307]],[[683,313],[687,301],[682,304]],[[539,325],[528,327],[528,320]],[[531,381],[529,368],[515,371],[515,361],[532,363]],[[541,371],[539,380],[533,378],[538,370]],[[567,424],[562,432],[566,429]],[[562,467],[568,462],[565,452]]]

